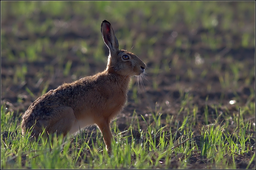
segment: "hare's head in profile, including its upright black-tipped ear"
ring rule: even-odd
[[[136,55],[126,50],[119,50],[118,40],[111,24],[104,20],[101,24],[101,34],[109,48],[107,71],[124,76],[139,76],[145,71],[146,64]]]

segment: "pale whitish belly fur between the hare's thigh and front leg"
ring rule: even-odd
[[[80,129],[83,129],[84,127],[90,126],[95,124],[92,117],[86,117],[83,119],[75,120],[74,125],[71,127],[69,133],[73,134],[79,131]]]

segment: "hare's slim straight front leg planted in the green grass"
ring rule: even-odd
[[[103,140],[106,144],[106,149],[111,151],[111,141],[112,141],[112,133],[110,131],[110,122],[108,120],[98,121],[96,122],[99,127],[101,134],[103,135]]]

